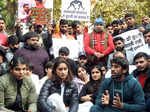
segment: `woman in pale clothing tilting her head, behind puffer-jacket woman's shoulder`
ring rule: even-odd
[[[73,81],[77,84],[78,93],[80,93],[82,87],[89,81],[89,75],[84,65],[77,66],[77,77],[75,77]]]

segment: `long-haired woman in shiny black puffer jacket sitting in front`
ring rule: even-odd
[[[57,58],[52,77],[41,88],[38,98],[39,112],[77,112],[78,89],[72,81],[69,64],[63,58]]]

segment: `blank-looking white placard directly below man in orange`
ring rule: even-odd
[[[67,40],[67,39],[57,39],[52,38],[53,40],[53,53],[55,57],[58,57],[58,51],[61,47],[67,47],[70,51],[69,58],[73,60],[77,60],[80,46],[77,40]]]

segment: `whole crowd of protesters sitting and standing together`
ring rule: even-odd
[[[91,32],[79,21],[27,32],[17,22],[8,35],[0,18],[0,112],[150,112],[150,18],[135,19],[105,25],[99,17]],[[131,52],[117,35],[135,29],[145,45]],[[78,58],[65,45],[56,56],[53,39],[76,41]]]

